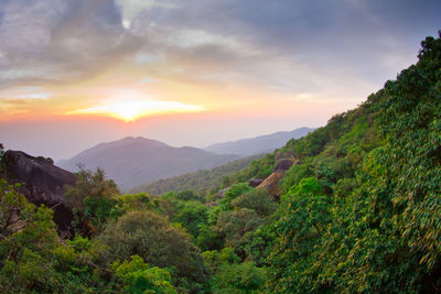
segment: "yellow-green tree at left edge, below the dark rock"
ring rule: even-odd
[[[0,292],[62,291],[51,251],[58,246],[52,210],[35,207],[0,179]]]

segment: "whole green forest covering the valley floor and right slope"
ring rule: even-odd
[[[440,37],[356,109],[207,179],[222,197],[121,195],[84,170],[64,193],[74,220],[63,236],[50,208],[0,179],[0,292],[440,292]],[[248,184],[281,157],[295,164],[279,196]]]

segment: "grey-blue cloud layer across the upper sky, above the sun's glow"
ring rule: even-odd
[[[365,94],[412,62],[440,11],[410,0],[0,0],[0,88],[148,76],[194,89],[331,97],[346,84]]]

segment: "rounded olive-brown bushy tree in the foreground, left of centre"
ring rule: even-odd
[[[109,247],[114,260],[139,255],[152,265],[171,269],[178,287],[195,291],[206,281],[206,269],[191,238],[153,211],[127,213],[109,222],[99,240]]]

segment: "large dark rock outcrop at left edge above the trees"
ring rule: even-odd
[[[73,214],[63,202],[64,186],[75,185],[73,173],[62,170],[44,157],[33,157],[21,151],[9,150],[2,159],[9,183],[20,183],[30,203],[44,204],[54,210],[54,222],[62,231],[68,231]]]

